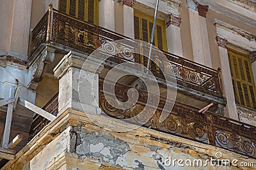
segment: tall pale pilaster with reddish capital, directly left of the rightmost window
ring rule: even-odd
[[[219,53],[220,53],[220,64],[221,64],[221,75],[223,80],[223,88],[225,92],[225,97],[227,99],[227,106],[225,111],[225,116],[238,120],[236,101],[234,95],[234,89],[232,85],[232,78],[230,74],[230,67],[228,62],[228,52],[227,52],[227,39],[216,37]],[[228,115],[227,115],[228,114]]]

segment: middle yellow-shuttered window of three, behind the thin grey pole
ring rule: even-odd
[[[141,39],[149,43],[153,22],[154,17],[134,10],[134,38]],[[163,20],[157,19],[156,21],[153,45],[160,50],[167,51],[165,22]]]

